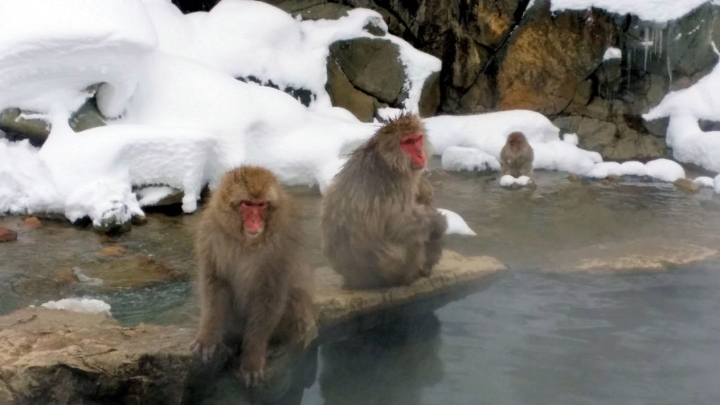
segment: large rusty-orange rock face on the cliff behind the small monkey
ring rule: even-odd
[[[549,1],[536,4],[527,18],[500,61],[498,107],[558,114],[598,68],[616,27],[598,9],[552,16]]]

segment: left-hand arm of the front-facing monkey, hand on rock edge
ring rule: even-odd
[[[190,348],[207,362],[222,339],[231,299],[228,285],[217,277],[213,264],[204,262],[200,265],[200,326]]]

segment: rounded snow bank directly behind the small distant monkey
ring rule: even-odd
[[[477,148],[500,157],[508,134],[521,131],[533,147],[535,169],[564,170],[584,174],[595,161],[572,143],[560,140],[559,129],[539,112],[513,110],[489,114],[441,115],[424,120],[433,152],[442,155],[451,146]]]

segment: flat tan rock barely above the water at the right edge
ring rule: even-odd
[[[581,271],[662,270],[668,266],[700,262],[717,253],[715,249],[675,239],[647,238],[554,253],[554,259],[559,263],[571,263],[572,270]]]

